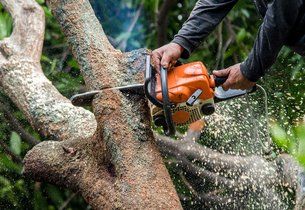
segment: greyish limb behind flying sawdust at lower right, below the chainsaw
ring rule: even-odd
[[[196,129],[191,128],[188,133],[193,135]],[[296,193],[295,209],[303,208],[305,173],[291,156],[282,154],[268,162],[259,156],[240,157],[219,153],[187,139],[187,135],[176,141],[163,136],[157,138],[163,155],[174,158],[169,161],[171,167],[182,169],[185,179],[190,175],[189,188],[196,192],[194,202],[221,209],[248,209],[251,205],[282,209],[287,208],[284,202],[286,188]],[[208,163],[198,164],[202,163],[203,158]],[[206,192],[199,187],[210,185],[215,190]]]

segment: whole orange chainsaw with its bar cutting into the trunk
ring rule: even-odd
[[[165,135],[176,133],[176,126],[189,125],[215,112],[215,103],[243,96],[256,91],[228,90],[221,87],[227,78],[210,76],[202,62],[175,66],[168,71],[160,67],[158,73],[146,57],[144,84],[107,88],[77,94],[71,98],[74,105],[83,105],[93,100],[98,93],[107,90],[135,91],[143,94],[150,102],[152,120],[162,127]]]

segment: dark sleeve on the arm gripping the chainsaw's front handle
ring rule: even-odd
[[[188,20],[172,42],[185,50],[183,58],[191,52],[216,28],[238,0],[199,0]]]

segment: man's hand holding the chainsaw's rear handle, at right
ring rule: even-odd
[[[224,90],[241,89],[246,90],[252,88],[256,83],[249,81],[240,70],[240,63],[224,70],[213,71],[216,77],[228,77],[227,81],[222,85]]]

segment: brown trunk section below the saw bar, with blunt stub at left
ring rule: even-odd
[[[97,136],[39,144],[27,154],[24,174],[79,191],[94,209],[180,208],[152,141],[144,99],[110,91],[101,97]]]

